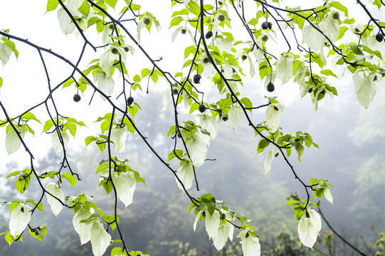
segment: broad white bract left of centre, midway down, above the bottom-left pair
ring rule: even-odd
[[[115,171],[112,174],[112,182],[115,184],[117,196],[120,201],[129,206],[132,203],[135,191],[135,174],[132,171],[122,171],[119,174]]]

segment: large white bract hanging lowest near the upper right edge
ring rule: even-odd
[[[353,82],[359,104],[365,108],[369,107],[374,95],[376,95],[376,72],[359,68],[353,74]]]

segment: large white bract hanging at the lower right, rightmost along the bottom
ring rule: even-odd
[[[298,223],[298,235],[302,245],[307,247],[313,247],[317,241],[318,233],[322,228],[321,217],[315,210],[307,210],[309,218],[307,218],[306,213],[304,213]]]

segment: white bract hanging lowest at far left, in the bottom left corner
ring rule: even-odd
[[[23,203],[19,203],[15,206],[9,215],[9,233],[16,238],[17,235],[20,235],[31,220],[31,207],[26,206]]]

